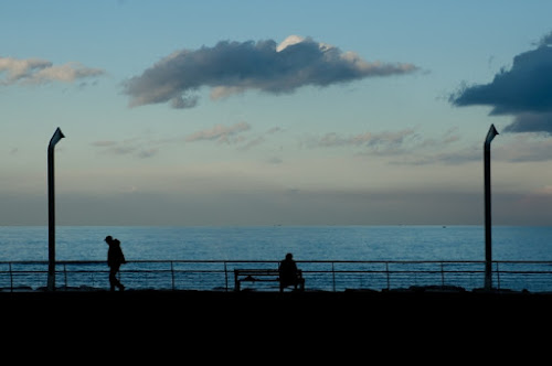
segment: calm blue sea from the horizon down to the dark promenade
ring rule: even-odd
[[[47,261],[47,227],[0,227],[0,262]],[[124,266],[124,283],[129,288],[227,289],[232,287],[233,266],[217,263],[185,265],[170,262],[144,265],[142,260],[266,260],[275,261],[293,252],[298,261],[482,261],[485,260],[485,230],[482,226],[266,226],[266,227],[57,227],[56,260],[100,261],[95,265],[70,265],[71,270],[82,273],[66,276],[57,266],[57,283],[70,287],[107,288],[106,235],[121,241],[130,263]],[[497,226],[492,230],[492,259],[497,261],[552,261],[552,227]],[[390,279],[385,263],[300,263],[307,272],[309,289],[343,290],[347,288],[405,288],[410,286],[438,284],[443,281],[439,263],[424,263],[427,274],[399,272]],[[11,286],[39,288],[45,283],[45,265],[0,263],[0,288],[8,288],[13,277],[11,270],[34,270],[32,274],[18,274]],[[31,265],[32,266],[32,265]],[[76,267],[75,267],[76,266]],[[141,266],[141,267],[140,267]],[[144,267],[149,266],[149,267]],[[187,267],[188,266],[188,267]],[[195,266],[195,267],[189,267]],[[251,266],[251,265],[250,265]],[[274,266],[274,265],[268,265]],[[390,265],[390,270],[408,270],[405,265]],[[408,265],[411,266],[411,265]],[[421,265],[415,265],[421,266]],[[481,263],[446,265],[447,269],[479,271],[478,273],[447,274],[444,284],[463,288],[482,286]],[[456,267],[452,267],[456,266]],[[495,276],[499,287],[552,291],[551,274],[539,278],[527,274]],[[514,265],[519,266],[519,265]],[[550,271],[548,263],[523,263],[524,271]],[[77,268],[78,267],[78,268]],[[243,267],[241,267],[243,268]],[[180,271],[172,276],[172,269]],[[519,270],[517,267],[516,270]],[[146,272],[144,271],[146,270]],[[152,274],[150,270],[160,273]],[[191,273],[190,270],[203,272]],[[215,270],[206,274],[204,270]],[[320,271],[341,270],[339,276]],[[350,270],[378,273],[348,273]],[[513,268],[511,268],[513,270]],[[2,272],[3,271],[3,272]],[[91,271],[94,271],[93,273]],[[224,273],[222,273],[222,271]],[[309,273],[310,271],[310,273]],[[317,273],[315,273],[317,272]],[[229,281],[229,277],[231,280]],[[266,282],[265,282],[266,283]],[[261,283],[256,283],[255,287]],[[275,286],[274,283],[269,286]],[[274,289],[273,289],[274,290]]]

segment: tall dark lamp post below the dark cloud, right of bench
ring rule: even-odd
[[[492,289],[492,241],[490,211],[490,142],[498,134],[495,125],[490,125],[484,144],[485,159],[485,290]]]

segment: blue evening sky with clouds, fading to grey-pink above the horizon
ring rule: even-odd
[[[1,1],[0,225],[550,225],[551,13]]]

